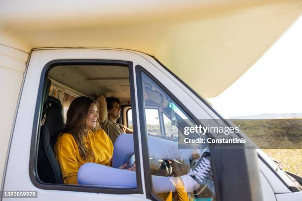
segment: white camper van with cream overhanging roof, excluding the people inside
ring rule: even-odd
[[[245,9],[246,12],[252,12],[250,14],[255,10],[257,12],[272,10],[279,14],[274,8],[281,9],[286,5],[288,7],[285,6],[284,9],[288,11],[302,7],[301,2],[292,4],[287,1],[282,1],[280,5],[269,0],[265,5],[259,5],[256,1],[250,1],[248,5],[237,2],[237,6],[232,6],[235,2],[232,0],[215,2],[207,4],[194,1],[192,5],[186,4],[184,8],[177,6],[177,3],[173,3],[172,7],[163,5],[169,15],[162,11],[159,16],[167,20],[167,23],[151,17],[154,16],[151,11],[158,7],[157,4],[152,3],[131,1],[128,4],[129,10],[126,10],[121,1],[118,5],[94,2],[95,6],[89,4],[88,7],[87,4],[82,7],[68,1],[67,4],[62,2],[61,8],[41,3],[36,5],[38,7],[35,9],[28,4],[24,5],[22,10],[20,5],[13,1],[1,2],[0,10],[3,11],[0,14],[2,21],[0,23],[0,92],[3,95],[0,115],[1,199],[23,197],[42,201],[301,201],[302,178],[285,173],[260,149],[223,149],[210,143],[206,144],[206,147],[200,150],[203,152],[206,149],[210,153],[211,166],[207,173],[211,172],[211,178],[205,179],[205,182],[198,184],[196,188],[192,187],[191,191],[186,185],[181,191],[173,181],[169,184],[165,183],[166,177],[192,174],[190,172],[196,167],[195,163],[199,163],[202,159],[203,155],[198,151],[199,157],[193,159],[191,156],[187,158],[179,156],[189,149],[170,148],[186,136],[184,134],[186,126],[194,127],[202,124],[202,120],[222,120],[225,126],[232,126],[189,87],[189,85],[194,87],[194,83],[204,84],[204,81],[196,78],[207,67],[200,69],[192,67],[197,64],[198,55],[205,53],[204,49],[196,53],[198,47],[202,45],[198,41],[194,43],[196,46],[192,45],[190,49],[194,53],[188,55],[189,49],[185,48],[187,46],[184,43],[192,44],[192,41],[197,38],[198,34],[195,31],[201,29],[196,27],[204,23],[202,20],[208,18],[209,21],[205,23],[207,24],[215,23],[221,18],[221,16],[211,18],[211,14],[208,16],[204,14],[201,15],[201,20],[199,15],[191,15],[191,11],[204,9],[211,12],[222,9],[225,12],[222,18],[239,23],[240,15],[249,16],[249,14],[242,14]],[[75,3],[75,10],[69,9],[69,3]],[[185,5],[183,1],[179,3]],[[115,8],[109,9],[113,4]],[[135,5],[142,10],[131,7]],[[227,6],[228,10],[218,5]],[[251,8],[248,9],[246,6]],[[62,18],[60,20],[56,14],[62,8],[65,8],[66,12],[59,14]],[[187,17],[181,19],[176,17],[181,22],[173,21],[170,26],[169,16],[175,16],[175,12],[182,10]],[[74,12],[78,12],[82,18],[75,17]],[[234,13],[228,15],[227,12]],[[35,14],[27,15],[29,13]],[[284,20],[282,29],[299,16],[301,9],[294,9],[290,14],[285,13],[288,18]],[[42,16],[41,19],[39,16]],[[114,16],[117,16],[118,20],[114,19]],[[138,16],[149,20],[150,26],[135,19]],[[89,22],[90,19],[94,20]],[[109,20],[112,24],[99,22],[96,19]],[[224,21],[219,24],[224,24]],[[192,23],[197,23],[198,26]],[[127,25],[135,29],[130,29]],[[184,32],[186,26],[191,36]],[[164,34],[159,36],[151,32],[152,30],[158,32],[159,28],[162,28]],[[282,29],[275,27],[274,30],[281,33]],[[172,33],[175,33],[175,38],[171,38]],[[149,34],[150,38],[148,38]],[[276,33],[273,37],[277,36]],[[183,42],[179,41],[180,38]],[[268,43],[262,44],[264,46],[260,45],[261,48],[269,46]],[[220,46],[221,44],[216,43],[219,47],[226,48],[227,45]],[[170,48],[169,51],[167,48]],[[178,58],[181,54],[184,55],[183,59]],[[222,52],[218,52],[218,56],[220,54]],[[258,58],[258,54],[259,51],[253,56]],[[175,64],[174,71],[178,73],[182,71],[186,75],[189,73],[194,80],[189,79],[189,85],[186,84],[171,71],[172,67],[165,67],[157,58],[166,58],[163,59],[166,63]],[[241,60],[238,64],[251,64],[251,60],[246,63]],[[179,63],[176,64],[174,61]],[[224,61],[226,60],[222,59],[221,62]],[[218,62],[214,63],[218,64]],[[210,64],[209,60],[203,64],[207,63]],[[225,65],[231,66],[227,63]],[[209,76],[213,75],[210,67],[205,71],[209,72]],[[227,76],[228,80],[225,80],[227,81],[225,83],[234,81],[238,78],[238,74],[242,74],[247,68],[246,66],[241,70],[238,68],[237,75]],[[221,73],[224,74],[226,71],[222,70]],[[188,80],[188,76],[185,79]],[[201,88],[196,86],[196,89],[208,88],[206,94],[217,95],[230,85],[219,85],[221,84],[219,81],[216,84],[218,87],[203,85]],[[54,152],[57,137],[64,131],[67,111],[72,100],[80,96],[97,98],[100,95],[118,97],[121,101],[119,124],[133,129],[133,134],[121,134],[119,137],[131,137],[123,138],[119,143],[116,140],[113,150],[131,145],[133,152],[131,153],[135,155],[136,171],[129,173],[128,170],[120,170],[126,172],[123,174],[115,171],[116,168],[108,167],[109,169],[97,171],[96,174],[93,169],[89,169],[85,172],[83,180],[90,179],[93,182],[67,184]],[[215,138],[211,134],[205,135],[205,139],[209,137]],[[244,138],[245,135],[239,132],[230,137]],[[172,155],[175,158],[171,157]],[[169,161],[182,167],[179,175],[171,174],[172,167]],[[166,170],[167,174],[162,175]],[[125,176],[126,174],[129,177]],[[133,183],[129,184],[129,181]]]

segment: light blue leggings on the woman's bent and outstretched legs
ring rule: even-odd
[[[158,137],[148,137],[149,156],[154,159],[185,159],[191,157],[192,149],[178,149],[178,143],[161,139]],[[95,163],[82,165],[77,174],[78,184],[96,185],[107,188],[136,188],[136,172],[124,169],[117,169],[127,163],[128,158],[134,154],[134,144],[132,134],[120,134],[115,140],[113,149],[112,166],[108,167]],[[164,193],[175,191],[175,186],[170,181],[174,177],[152,175],[153,191]],[[186,191],[193,192],[199,184],[189,175],[181,176],[181,180]]]

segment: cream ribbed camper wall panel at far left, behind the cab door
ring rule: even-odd
[[[5,173],[5,158],[28,56],[26,52],[0,44],[0,181]]]

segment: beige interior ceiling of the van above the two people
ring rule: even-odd
[[[57,66],[49,71],[53,85],[64,85],[77,95],[118,97],[130,103],[129,72],[121,66]],[[54,81],[53,81],[54,80]],[[61,86],[62,86],[61,85]],[[56,86],[60,87],[60,86]]]

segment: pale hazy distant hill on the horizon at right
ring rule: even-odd
[[[230,117],[229,119],[293,119],[302,118],[302,113],[285,113],[285,114],[257,114],[249,116]]]

